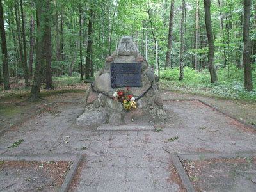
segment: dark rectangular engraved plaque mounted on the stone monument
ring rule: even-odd
[[[111,87],[141,86],[141,63],[111,63]]]

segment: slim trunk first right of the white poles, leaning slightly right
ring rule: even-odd
[[[169,32],[168,32],[168,44],[167,44],[167,52],[166,52],[166,60],[164,69],[169,67],[171,60],[171,52],[172,52],[172,33],[173,33],[173,18],[174,18],[174,4],[175,0],[172,0],[170,6],[170,19],[169,19]]]

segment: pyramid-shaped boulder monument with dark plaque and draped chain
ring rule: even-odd
[[[164,122],[168,116],[163,110],[158,81],[159,77],[154,74],[153,68],[148,67],[132,38],[123,36],[118,49],[106,59],[104,68],[97,73],[87,90],[84,112],[77,118],[76,124],[91,127]],[[135,99],[136,109],[125,109],[122,100],[118,102],[114,99],[113,94],[127,90]]]

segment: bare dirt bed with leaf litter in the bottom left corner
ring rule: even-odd
[[[0,191],[58,191],[72,161],[0,161]]]

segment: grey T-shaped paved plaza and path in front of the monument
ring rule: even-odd
[[[179,191],[170,153],[255,151],[256,131],[199,101],[164,102],[171,120],[158,132],[78,127],[83,110],[82,100],[52,105],[1,134],[0,156],[85,154],[74,191]]]

